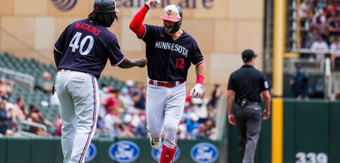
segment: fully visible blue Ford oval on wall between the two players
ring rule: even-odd
[[[130,141],[119,141],[108,149],[108,154],[112,160],[120,163],[129,163],[137,160],[140,149],[137,144]]]

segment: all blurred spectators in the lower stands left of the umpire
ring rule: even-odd
[[[45,72],[43,83],[39,89],[50,95],[49,105],[59,106],[57,93],[51,95],[53,80]],[[18,120],[27,120],[54,128],[52,133],[46,133],[40,127],[30,126],[28,131],[37,135],[61,136],[62,121],[58,115],[55,124],[46,120],[44,113],[35,104],[25,104],[24,98],[18,98],[15,104],[9,102],[13,94],[14,82],[5,78],[0,80],[0,135],[20,136],[17,132]],[[125,87],[115,89],[113,86],[102,86],[100,89],[100,108],[97,119],[95,137],[109,138],[147,138],[146,122],[146,91],[142,83],[128,80]],[[57,89],[57,88],[56,88]],[[216,102],[222,90],[216,85],[212,95],[204,94],[201,98],[191,98],[187,91],[183,119],[179,124],[179,139],[208,139],[215,127]],[[26,108],[29,106],[29,108]],[[163,134],[164,136],[164,134]]]

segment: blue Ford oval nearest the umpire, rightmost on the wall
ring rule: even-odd
[[[212,163],[218,159],[219,150],[211,143],[199,143],[191,148],[190,156],[197,163]]]

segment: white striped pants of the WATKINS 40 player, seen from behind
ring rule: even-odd
[[[99,89],[93,74],[62,69],[56,77],[64,163],[84,163],[96,131]]]

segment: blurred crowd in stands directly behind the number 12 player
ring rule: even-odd
[[[97,137],[146,138],[146,90],[141,83],[126,81],[126,87],[103,87],[100,91],[100,109]],[[208,139],[215,125],[216,100],[221,96],[217,85],[209,99],[203,95],[191,98],[187,92],[183,118],[179,124],[179,139]],[[164,137],[164,134],[162,135]]]

